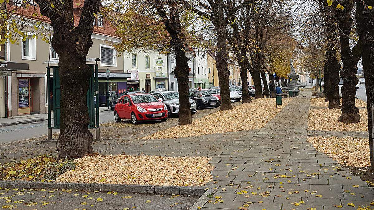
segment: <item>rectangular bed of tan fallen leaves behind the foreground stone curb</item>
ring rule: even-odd
[[[57,182],[203,186],[212,181],[207,157],[96,155],[77,159]]]

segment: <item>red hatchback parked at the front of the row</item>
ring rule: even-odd
[[[139,121],[162,122],[168,119],[168,108],[150,94],[131,94],[122,96],[114,107],[114,119],[129,119],[132,124]]]

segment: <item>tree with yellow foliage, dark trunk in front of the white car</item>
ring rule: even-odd
[[[178,0],[113,1],[108,9],[115,7],[123,11],[110,18],[115,23],[116,34],[121,40],[113,43],[119,52],[140,49],[157,50],[160,53],[174,51],[177,61],[174,74],[178,81],[180,104],[178,124],[191,124],[188,95],[190,61],[186,54],[191,51],[188,46],[203,43],[203,40],[194,35],[194,30],[191,30],[197,24],[193,21],[191,12],[186,12]]]

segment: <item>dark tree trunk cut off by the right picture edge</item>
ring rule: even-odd
[[[359,42],[361,44],[362,67],[365,72],[366,99],[368,105],[368,130],[370,147],[370,166],[374,169],[374,139],[373,139],[373,113],[374,103],[374,11],[368,9],[367,5],[374,5],[374,0],[366,0],[365,4],[361,0],[356,0],[356,23]]]

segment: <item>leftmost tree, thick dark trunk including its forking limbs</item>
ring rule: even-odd
[[[40,13],[51,21],[52,47],[59,56],[61,126],[56,142],[58,158],[81,158],[94,152],[92,134],[88,130],[86,95],[91,69],[86,65],[86,56],[92,46],[93,21],[99,12],[100,1],[84,1],[78,25],[74,24],[75,1],[36,0],[36,3]]]

